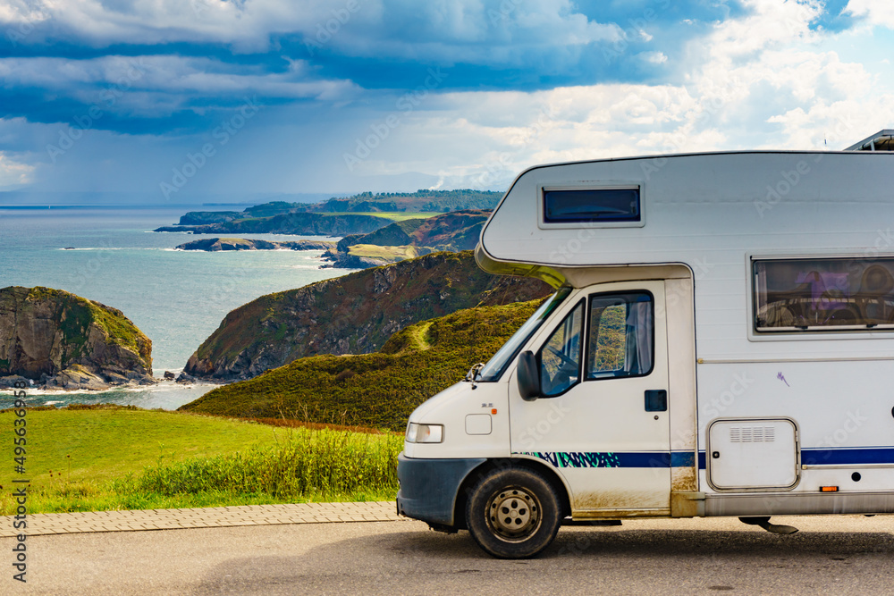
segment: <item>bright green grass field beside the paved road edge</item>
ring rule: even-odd
[[[0,513],[12,480],[30,480],[29,512],[219,507],[392,499],[401,437],[284,428],[123,407],[28,410],[25,474],[13,471],[13,412],[0,466]]]

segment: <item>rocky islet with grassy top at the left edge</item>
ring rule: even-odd
[[[155,382],[152,341],[110,306],[63,290],[4,288],[0,377],[13,376],[63,389]]]

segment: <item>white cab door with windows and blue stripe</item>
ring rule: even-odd
[[[512,453],[561,474],[576,517],[668,515],[670,413],[663,281],[569,297],[528,345],[543,397],[510,382]]]

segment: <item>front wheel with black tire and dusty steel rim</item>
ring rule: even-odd
[[[468,532],[496,558],[530,558],[559,532],[561,505],[555,489],[533,470],[504,468],[485,474],[466,504]]]

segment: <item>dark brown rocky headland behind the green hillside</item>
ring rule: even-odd
[[[542,281],[485,273],[471,251],[433,253],[240,306],[199,346],[185,372],[231,381],[299,357],[367,354],[409,324],[551,291]]]

